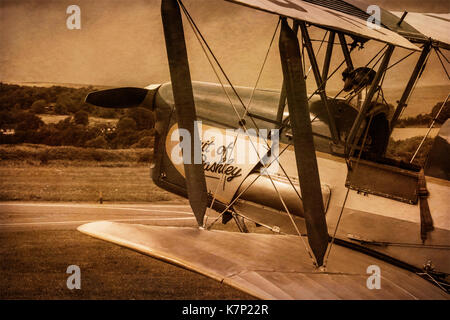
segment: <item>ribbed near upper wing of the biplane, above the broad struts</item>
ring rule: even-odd
[[[227,0],[280,16],[305,21],[350,35],[374,39],[407,49],[418,48],[399,34],[381,27],[367,26],[367,13],[342,0]]]

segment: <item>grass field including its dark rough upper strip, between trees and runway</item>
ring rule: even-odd
[[[165,201],[150,179],[152,149],[0,146],[0,200]]]

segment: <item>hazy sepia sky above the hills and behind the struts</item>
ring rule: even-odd
[[[275,31],[277,17],[221,0],[184,0],[200,30],[235,85],[254,86]],[[402,11],[449,12],[448,0],[370,1]],[[81,9],[81,29],[69,30],[66,9]],[[217,82],[192,30],[185,21],[192,79]],[[322,39],[314,30],[312,38]],[[259,87],[278,89],[282,74],[275,38]],[[318,50],[319,42],[315,42]],[[380,45],[355,53],[364,65]],[[323,59],[325,46],[318,59]],[[336,50],[338,52],[338,50]],[[396,49],[393,61],[408,52]],[[386,77],[385,85],[402,87],[417,55]],[[332,67],[342,60],[334,56]],[[419,85],[448,85],[434,56]],[[313,86],[312,76],[308,85]],[[169,81],[160,17],[160,0],[0,0],[0,81],[146,86]],[[331,89],[342,85],[340,77]]]

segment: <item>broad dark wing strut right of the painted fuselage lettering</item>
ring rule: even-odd
[[[328,245],[328,231],[300,47],[295,32],[289,27],[285,18],[281,22],[279,47],[297,171],[302,190],[308,242],[316,258],[317,265],[321,266]]]

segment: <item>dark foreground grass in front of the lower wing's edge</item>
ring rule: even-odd
[[[0,256],[0,299],[252,299],[75,230],[0,232]],[[81,269],[81,290],[67,289],[72,264]]]

